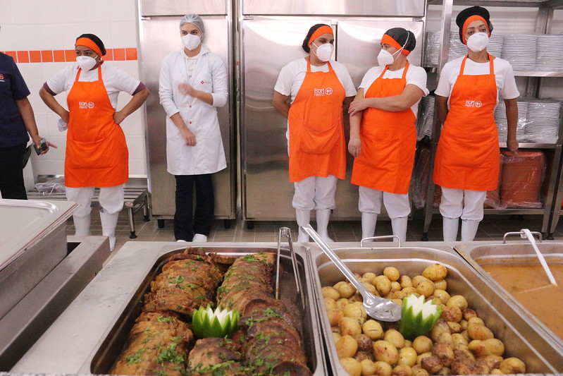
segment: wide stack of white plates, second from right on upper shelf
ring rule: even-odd
[[[535,69],[537,42],[537,35],[505,35],[500,57],[511,63],[514,71]]]

